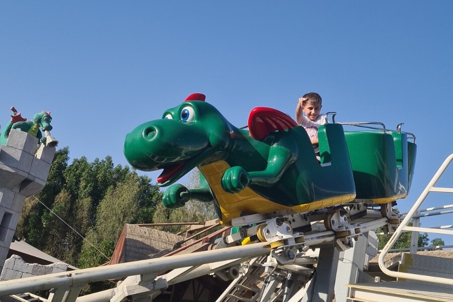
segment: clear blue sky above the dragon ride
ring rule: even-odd
[[[404,122],[416,135],[412,191],[399,202],[408,210],[453,153],[452,10],[450,1],[3,1],[0,124],[12,105],[27,118],[50,110],[72,159],[126,165],[126,133],[193,92],[242,126],[257,106],[293,116],[314,91],[337,121]]]

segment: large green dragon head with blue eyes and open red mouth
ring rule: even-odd
[[[191,94],[162,119],[139,125],[126,135],[124,155],[142,171],[163,169],[157,182],[168,186],[193,168],[226,156],[232,125],[203,94]]]

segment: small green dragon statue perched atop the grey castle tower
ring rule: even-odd
[[[17,112],[16,108],[11,107],[11,111],[13,111],[13,115],[11,115],[11,121],[3,129],[2,134],[0,134],[0,144],[7,144],[11,129],[20,129],[21,131],[36,136],[40,142],[46,142],[46,139],[45,137],[43,137],[40,128],[43,131],[52,130],[52,126],[50,125],[50,121],[52,120],[50,111],[44,112],[43,110],[42,112],[35,114],[33,116],[33,120],[30,121],[27,121],[27,119],[23,118],[21,116],[21,113]]]

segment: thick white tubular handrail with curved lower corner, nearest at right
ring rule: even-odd
[[[428,229],[428,228],[419,228],[418,226],[408,226],[408,224],[411,221],[411,219],[413,217],[419,215],[419,213],[420,213],[420,210],[419,210],[420,205],[425,201],[426,197],[428,196],[428,194],[430,192],[453,193],[453,189],[451,189],[451,188],[434,187],[435,184],[437,183],[437,181],[440,179],[440,177],[442,176],[442,174],[445,172],[445,170],[448,168],[448,166],[450,165],[450,163],[452,161],[453,161],[453,154],[449,155],[445,159],[445,161],[442,163],[440,168],[434,174],[434,176],[431,179],[431,181],[428,183],[426,188],[420,194],[420,197],[418,197],[417,201],[415,201],[415,203],[412,206],[412,208],[410,209],[410,211],[404,217],[403,221],[398,226],[397,230],[395,231],[393,236],[390,238],[389,242],[384,247],[381,255],[379,255],[379,267],[381,268],[381,270],[386,275],[391,276],[391,277],[395,277],[395,278],[404,278],[404,279],[418,280],[418,281],[424,281],[424,282],[433,282],[433,283],[453,285],[453,279],[434,277],[434,276],[424,276],[424,275],[418,275],[418,274],[412,274],[412,273],[395,272],[395,271],[389,270],[384,264],[385,256],[387,255],[387,253],[389,252],[390,248],[395,244],[395,242],[398,240],[400,235],[405,230],[406,231],[415,231],[416,232],[415,234],[418,234],[418,231],[421,231],[421,232],[442,233],[442,234],[453,235],[453,231],[438,230],[438,229]]]

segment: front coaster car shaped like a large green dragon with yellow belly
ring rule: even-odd
[[[303,127],[265,107],[252,110],[249,130],[232,125],[203,94],[192,94],[162,119],[127,134],[124,155],[136,169],[163,169],[157,182],[171,185],[167,207],[190,200],[213,202],[224,224],[243,214],[307,212],[355,198],[343,127],[319,130],[321,164]],[[197,167],[200,188],[174,184]]]

